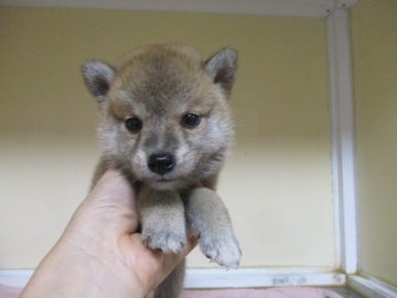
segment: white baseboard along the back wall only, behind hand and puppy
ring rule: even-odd
[[[23,288],[33,270],[0,270],[0,284]],[[346,276],[315,268],[239,268],[186,270],[185,288],[253,288],[287,286],[341,286]]]

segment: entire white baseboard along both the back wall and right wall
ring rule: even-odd
[[[0,285],[23,288],[33,270],[0,270]],[[196,269],[186,272],[185,288],[343,286],[346,275],[312,268]],[[371,276],[351,275],[347,285],[368,298],[397,298],[397,288]]]

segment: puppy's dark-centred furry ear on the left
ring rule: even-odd
[[[86,86],[95,99],[98,103],[105,102],[115,79],[116,68],[105,62],[89,60],[82,65],[82,72]]]

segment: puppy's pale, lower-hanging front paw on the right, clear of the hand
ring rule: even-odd
[[[233,235],[229,237],[201,235],[198,243],[203,254],[212,262],[227,268],[238,267],[242,258],[242,249],[239,248],[237,240]]]

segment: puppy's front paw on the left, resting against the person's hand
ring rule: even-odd
[[[185,230],[174,231],[167,228],[144,228],[143,243],[155,251],[163,253],[179,253],[186,244]]]

